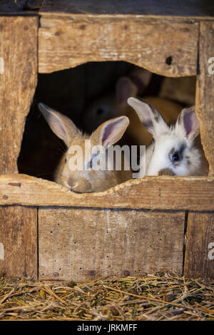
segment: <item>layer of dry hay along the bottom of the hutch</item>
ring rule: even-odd
[[[214,320],[214,281],[175,273],[88,284],[1,278],[0,319]]]

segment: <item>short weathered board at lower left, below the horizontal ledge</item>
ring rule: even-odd
[[[0,207],[0,276],[37,278],[37,210]]]

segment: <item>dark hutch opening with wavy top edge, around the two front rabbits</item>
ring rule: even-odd
[[[154,105],[170,124],[175,123],[183,108],[194,105],[195,81],[195,76],[158,76],[123,61],[91,62],[54,73],[39,73],[34,100],[26,118],[18,159],[19,172],[54,181],[54,171],[66,151],[65,143],[51,131],[38,103],[60,111],[83,133],[90,134],[104,121],[124,115],[130,94],[141,96]],[[128,92],[127,82],[128,85],[131,83]],[[151,134],[133,108],[129,107],[129,110],[131,125],[118,144],[148,145]]]

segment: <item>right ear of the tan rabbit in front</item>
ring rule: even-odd
[[[127,116],[112,118],[102,123],[91,135],[91,140],[96,145],[103,145],[107,148],[108,145],[113,145],[118,142],[125,133],[128,127],[129,120]]]

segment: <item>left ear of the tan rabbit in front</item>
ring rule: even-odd
[[[69,146],[72,138],[78,134],[76,125],[65,115],[44,105],[44,103],[39,103],[39,110],[44,115],[47,123],[49,123],[51,130]]]

